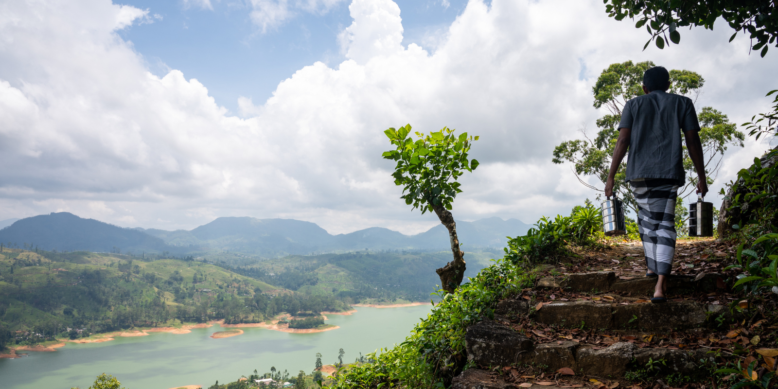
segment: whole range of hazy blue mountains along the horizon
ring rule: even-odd
[[[506,237],[527,233],[529,225],[499,217],[475,222],[457,221],[465,250],[503,247]],[[345,251],[449,250],[448,231],[437,225],[424,233],[404,235],[381,227],[331,235],[315,223],[295,219],[220,217],[194,230],[122,228],[68,212],[19,219],[0,230],[4,244],[34,244],[43,250],[131,251],[139,254],[186,254],[197,251],[237,251],[275,258],[289,254],[321,254]]]

